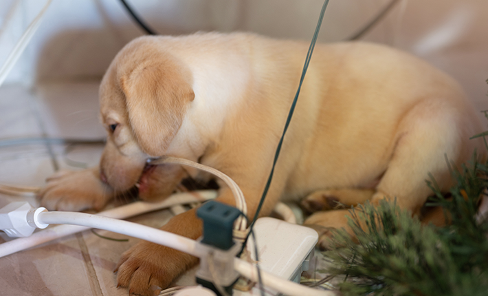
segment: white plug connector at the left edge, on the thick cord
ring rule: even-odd
[[[44,211],[47,209],[34,209],[28,202],[10,202],[0,209],[0,230],[10,237],[30,236],[34,229],[49,225],[38,222],[39,213]]]

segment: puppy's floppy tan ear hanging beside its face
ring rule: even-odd
[[[195,98],[190,70],[175,61],[144,61],[122,76],[120,85],[142,151],[162,156]]]

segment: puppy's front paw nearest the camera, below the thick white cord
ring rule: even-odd
[[[117,286],[129,288],[130,295],[157,295],[197,261],[166,246],[140,242],[122,254],[115,267]]]

